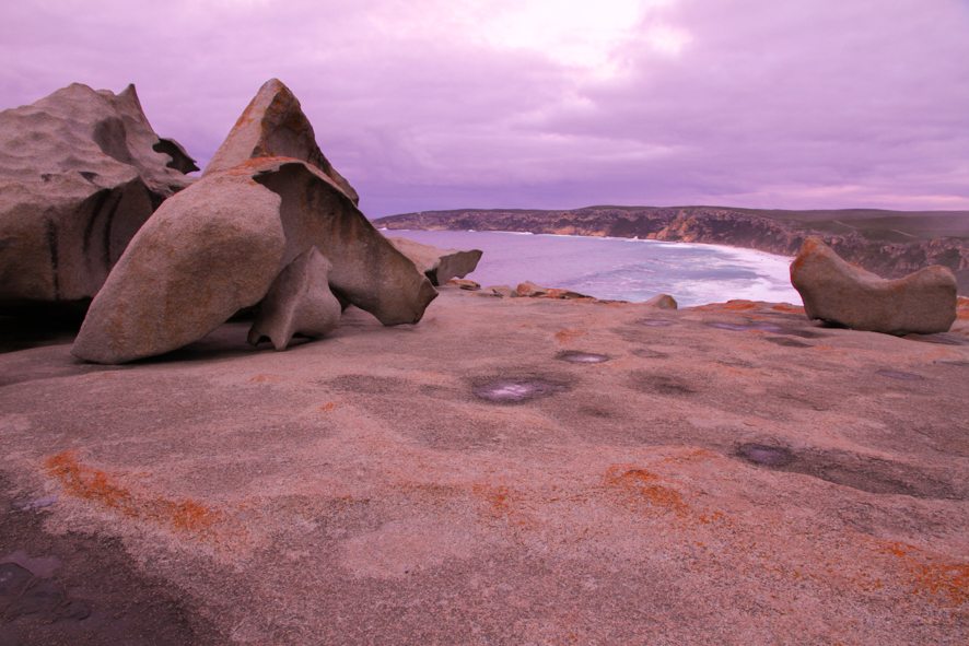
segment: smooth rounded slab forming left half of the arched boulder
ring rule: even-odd
[[[197,341],[257,304],[282,267],[280,198],[221,175],[167,200],[91,303],[71,353],[124,363]]]

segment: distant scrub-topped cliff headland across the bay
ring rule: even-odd
[[[392,215],[387,228],[554,233],[747,247],[793,256],[818,235],[842,258],[885,278],[949,268],[969,294],[969,212],[757,211],[720,207],[589,207],[572,211],[457,210]]]

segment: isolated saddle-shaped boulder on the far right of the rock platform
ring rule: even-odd
[[[886,280],[842,260],[809,237],[791,263],[791,283],[810,319],[855,330],[944,332],[956,319],[956,279],[939,266]]]

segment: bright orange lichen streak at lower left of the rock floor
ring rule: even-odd
[[[48,457],[44,466],[70,495],[97,503],[129,518],[151,520],[179,531],[203,533],[222,517],[220,513],[189,498],[173,501],[138,495],[106,472],[82,465],[72,450]]]

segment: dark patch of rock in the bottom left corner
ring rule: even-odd
[[[182,590],[144,575],[120,541],[48,533],[44,505],[20,505],[10,490],[0,478],[0,644],[229,642]]]

